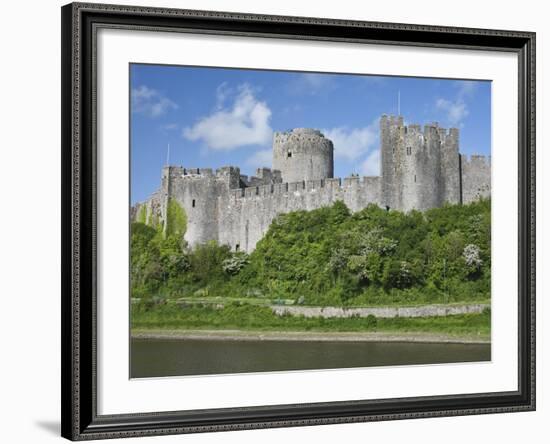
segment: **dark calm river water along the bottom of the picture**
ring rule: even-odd
[[[490,360],[490,344],[132,339],[131,377]]]

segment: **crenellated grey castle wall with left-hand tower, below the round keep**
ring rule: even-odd
[[[381,202],[380,177],[229,186],[241,177],[238,168],[214,174],[208,169],[165,167],[161,190],[134,207],[133,220],[144,206],[146,223],[166,221],[168,201],[174,199],[187,215],[185,239],[190,245],[216,240],[234,251],[250,252],[278,214],[313,210],[339,200],[352,211]]]

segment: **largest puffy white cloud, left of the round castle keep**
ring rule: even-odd
[[[202,140],[207,148],[221,151],[268,144],[273,130],[269,125],[271,110],[267,104],[256,99],[247,84],[239,86],[230,107],[223,106],[227,95],[227,86],[218,87],[216,99],[219,108],[209,116],[202,117],[192,127],[185,128],[183,137],[192,141]],[[220,97],[223,98],[221,103]]]

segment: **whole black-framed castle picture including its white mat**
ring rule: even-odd
[[[535,409],[535,34],[72,3],[62,435]]]

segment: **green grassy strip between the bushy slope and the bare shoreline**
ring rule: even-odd
[[[132,307],[132,330],[243,330],[280,332],[390,332],[490,337],[490,312],[425,318],[305,318],[277,316],[268,307],[232,304],[221,309],[178,305]]]

